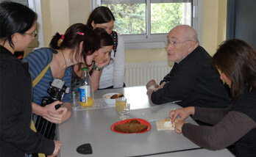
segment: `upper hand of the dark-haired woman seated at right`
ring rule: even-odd
[[[193,107],[193,106],[186,107],[183,109],[175,109],[170,112],[171,122],[174,122],[174,120],[176,120],[178,115],[180,116],[179,120],[185,120],[191,114],[192,115],[195,114],[195,107]]]

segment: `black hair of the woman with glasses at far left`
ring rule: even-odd
[[[0,4],[0,39],[4,43],[8,40],[13,48],[12,35],[24,34],[31,29],[38,15],[23,4],[12,1],[4,1]]]

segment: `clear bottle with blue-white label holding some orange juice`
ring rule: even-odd
[[[82,82],[79,87],[80,105],[84,107],[93,105],[93,84],[88,67],[82,67]]]

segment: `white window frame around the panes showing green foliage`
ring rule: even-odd
[[[150,0],[146,0],[146,32],[150,30]],[[91,0],[90,9],[94,10],[101,6],[101,0]],[[196,30],[199,43],[201,43],[202,34],[202,0],[192,0],[192,27]],[[146,49],[146,48],[166,48],[166,34],[123,34],[125,49]]]

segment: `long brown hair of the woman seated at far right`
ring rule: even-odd
[[[256,87],[256,52],[243,40],[231,39],[219,46],[213,65],[231,81],[233,101]]]

